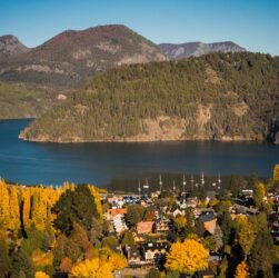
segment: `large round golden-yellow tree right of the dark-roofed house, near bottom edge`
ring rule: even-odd
[[[205,247],[195,239],[176,242],[171,246],[165,267],[172,271],[192,275],[208,267],[209,254]]]

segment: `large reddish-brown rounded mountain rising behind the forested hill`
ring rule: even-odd
[[[28,52],[0,61],[0,80],[58,88],[79,87],[123,63],[166,60],[158,46],[124,26],[64,31]]]

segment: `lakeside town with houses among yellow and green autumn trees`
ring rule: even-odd
[[[0,277],[277,277],[279,165],[267,180],[219,176],[216,190],[203,175],[158,183],[118,195],[2,179]]]

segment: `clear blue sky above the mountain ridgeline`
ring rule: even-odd
[[[110,23],[156,43],[231,40],[279,54],[279,0],[0,0],[0,36],[28,47],[67,29]]]

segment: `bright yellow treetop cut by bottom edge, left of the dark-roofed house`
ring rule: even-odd
[[[72,267],[70,278],[110,278],[112,277],[112,268],[106,261],[99,258],[84,260]]]

